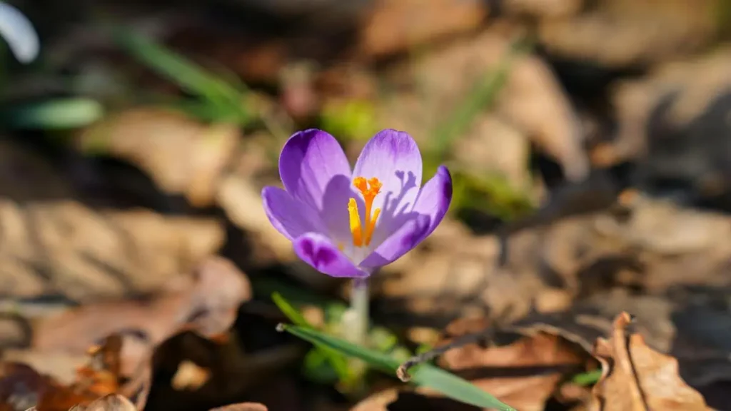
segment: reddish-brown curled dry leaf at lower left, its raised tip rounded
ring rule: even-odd
[[[240,303],[251,297],[249,280],[222,257],[200,263],[193,275],[181,279],[176,288],[151,301],[89,304],[39,319],[33,347],[50,352],[85,352],[105,336],[120,332],[126,336],[122,374],[129,375],[147,361],[156,344],[181,328],[203,336],[226,331]]]

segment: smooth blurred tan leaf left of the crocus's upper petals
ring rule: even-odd
[[[86,129],[80,148],[131,162],[164,192],[182,194],[193,206],[210,206],[224,167],[239,140],[233,124],[206,126],[181,113],[140,108]]]

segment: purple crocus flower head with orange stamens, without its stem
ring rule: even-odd
[[[422,186],[419,148],[393,129],[366,143],[354,169],[332,135],[298,132],[284,144],[279,176],[284,189],[262,190],[269,221],[300,259],[336,277],[367,277],[406,254],[439,225],[452,200],[447,167]]]

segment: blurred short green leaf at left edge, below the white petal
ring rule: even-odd
[[[2,110],[4,124],[17,129],[75,129],[104,116],[104,108],[92,99],[50,99]]]

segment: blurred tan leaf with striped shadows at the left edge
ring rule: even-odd
[[[0,200],[3,295],[77,302],[152,293],[224,241],[213,219]]]

